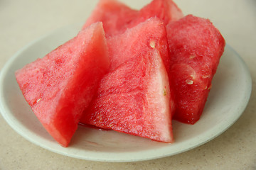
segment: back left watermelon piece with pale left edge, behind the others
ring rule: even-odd
[[[116,35],[138,14],[137,10],[129,8],[117,0],[100,0],[82,29],[92,23],[102,21],[106,36]]]

